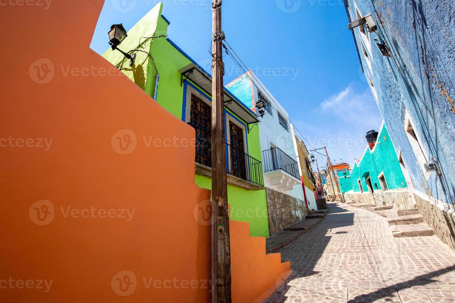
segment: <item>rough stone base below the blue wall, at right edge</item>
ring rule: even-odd
[[[414,195],[420,214],[424,217],[427,224],[433,228],[433,232],[442,242],[455,250],[455,216],[446,213],[430,201]]]

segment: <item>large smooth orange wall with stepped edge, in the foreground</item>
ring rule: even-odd
[[[103,2],[52,1],[47,9],[0,10],[9,29],[2,45],[10,46],[0,48],[8,61],[1,70],[0,301],[208,302],[210,228],[194,214],[210,194],[194,184],[194,148],[182,147],[194,138],[194,129],[89,49]],[[147,147],[142,136],[177,136],[181,144]],[[123,145],[129,149],[120,149],[117,137],[131,141]],[[27,144],[5,145],[2,139],[8,138]],[[36,138],[52,139],[48,150]],[[35,204],[42,200],[52,205]],[[127,222],[65,215],[68,207],[135,212]],[[233,297],[242,302],[249,290],[260,296],[273,289],[289,263],[266,256],[262,240],[249,238],[238,223],[232,230]],[[2,280],[9,277],[15,282],[3,289]],[[116,278],[132,283],[126,292],[116,289]],[[48,292],[36,287],[41,279],[52,280]],[[29,289],[18,280],[35,282]],[[168,280],[177,287],[167,288]],[[196,288],[188,286],[191,281]]]

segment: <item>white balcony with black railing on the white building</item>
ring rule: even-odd
[[[300,181],[298,163],[278,147],[262,152],[264,177],[272,188],[283,191],[291,190]]]

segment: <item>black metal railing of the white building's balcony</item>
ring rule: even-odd
[[[278,147],[264,150],[262,159],[264,161],[264,172],[283,169],[291,176],[300,179],[297,162]]]

